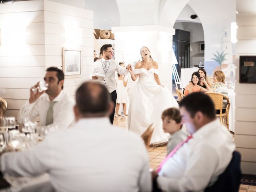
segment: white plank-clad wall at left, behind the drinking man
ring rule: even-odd
[[[6,116],[17,116],[19,109],[29,98],[29,88],[42,80],[46,68],[62,68],[64,26],[82,28],[83,78],[65,79],[64,91],[71,96],[82,80],[88,79],[93,64],[93,20],[92,12],[47,0],[1,4],[1,31],[7,27],[26,29],[14,30],[12,44],[4,45],[2,33],[0,45],[0,97],[6,99]],[[16,40],[16,38],[18,38]],[[21,38],[26,43],[18,44]]]

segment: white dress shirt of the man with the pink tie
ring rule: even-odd
[[[163,191],[204,191],[216,182],[232,158],[235,144],[216,119],[193,134],[162,167],[157,178]]]

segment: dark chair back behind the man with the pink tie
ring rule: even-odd
[[[220,174],[218,180],[212,186],[205,189],[205,192],[238,192],[242,179],[240,163],[241,155],[234,151],[226,170]]]

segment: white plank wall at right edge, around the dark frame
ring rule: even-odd
[[[239,56],[256,55],[256,1],[237,0],[236,74]],[[242,172],[256,174],[256,84],[240,84],[236,75],[235,143],[242,154]]]

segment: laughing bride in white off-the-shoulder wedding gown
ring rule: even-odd
[[[162,112],[166,108],[177,107],[178,103],[168,90],[160,83],[158,77],[158,63],[155,62],[147,47],[140,49],[142,61],[137,62],[134,70],[128,69],[133,81],[139,77],[132,94],[128,111],[128,130],[139,135],[155,123],[154,132],[150,141],[158,146],[168,141],[169,134],[162,129]]]

